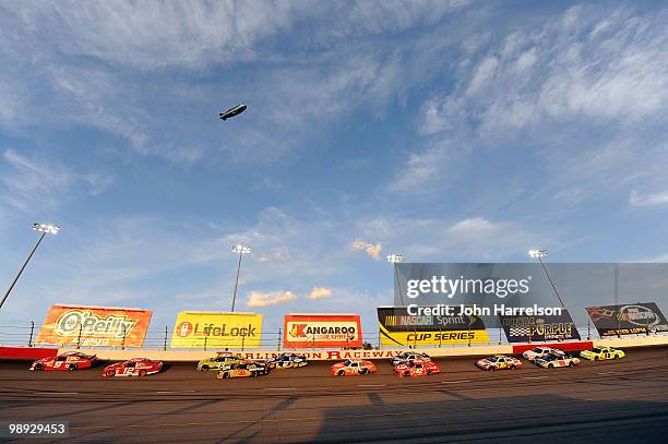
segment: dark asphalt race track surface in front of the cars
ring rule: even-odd
[[[627,352],[497,372],[443,359],[443,373],[413,379],[382,361],[367,376],[330,376],[329,364],[312,363],[236,380],[194,364],[107,380],[99,368],[28,372],[5,361],[0,420],[67,420],[69,442],[665,443],[668,349]]]

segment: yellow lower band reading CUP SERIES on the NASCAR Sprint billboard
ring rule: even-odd
[[[389,332],[379,324],[381,344],[384,347],[439,346],[453,344],[487,344],[486,329],[452,329],[436,332]]]

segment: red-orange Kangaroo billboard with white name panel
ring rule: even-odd
[[[362,346],[359,314],[286,314],[284,348]]]

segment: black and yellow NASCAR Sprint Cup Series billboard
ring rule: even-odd
[[[410,315],[406,307],[379,307],[382,346],[489,343],[485,321],[466,315]]]

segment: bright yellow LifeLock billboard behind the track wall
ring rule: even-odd
[[[262,314],[181,311],[171,348],[260,348]]]

